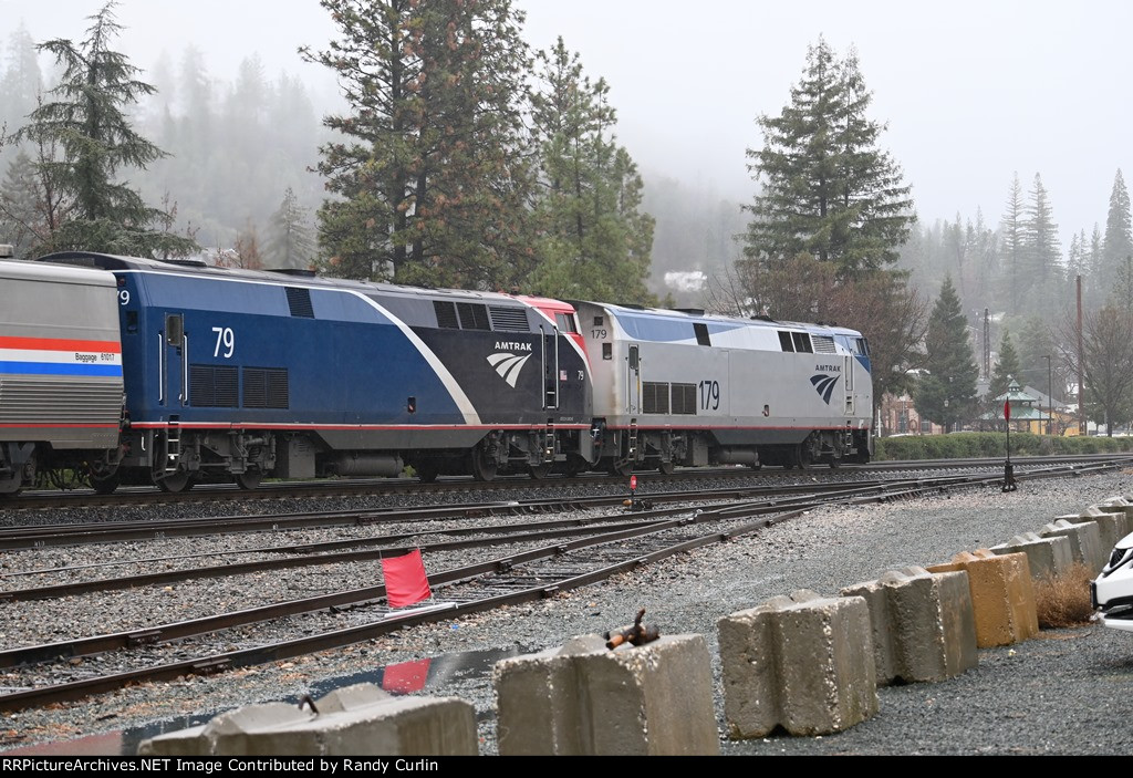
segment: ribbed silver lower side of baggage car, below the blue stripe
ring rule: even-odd
[[[117,425],[122,382],[0,377],[0,425]]]

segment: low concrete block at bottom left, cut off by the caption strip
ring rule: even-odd
[[[144,741],[142,755],[476,755],[476,711],[457,698],[394,698],[373,684],[313,706],[246,706]]]

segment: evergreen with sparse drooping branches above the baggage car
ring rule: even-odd
[[[138,69],[110,49],[120,31],[114,6],[108,2],[90,17],[82,44],[56,39],[39,45],[63,68],[61,82],[50,93],[58,100],[36,108],[17,137],[41,145],[58,143],[62,159],[43,159],[37,171],[70,206],[69,217],[44,237],[40,250],[186,254],[196,243],[151,230],[150,224],[165,214],[147,206],[119,176],[125,168],[144,169],[163,152],[138,135],[123,112],[153,87],[137,80]]]

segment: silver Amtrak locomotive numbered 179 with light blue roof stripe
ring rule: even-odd
[[[598,467],[868,462],[869,345],[845,327],[577,302]]]

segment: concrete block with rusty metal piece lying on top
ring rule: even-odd
[[[496,662],[501,755],[715,755],[702,635],[608,650],[598,635]]]

